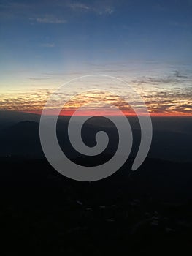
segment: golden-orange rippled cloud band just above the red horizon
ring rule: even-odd
[[[26,91],[10,91],[1,94],[0,110],[16,110],[40,114],[52,93],[53,91],[45,89],[36,89],[28,93],[26,93]],[[53,113],[55,109],[63,107],[65,98],[65,94],[55,97],[55,105],[50,106],[50,109],[53,109]],[[101,102],[101,99],[105,99],[106,105]],[[143,99],[151,116],[192,116],[191,95],[188,95],[188,97],[177,97],[177,95],[174,95],[174,97],[169,97],[169,95],[159,97],[157,94],[146,94],[143,95]],[[89,102],[92,102],[92,104],[88,105]],[[120,108],[127,116],[135,115],[134,110],[130,106],[131,103],[128,105],[126,100],[107,92],[93,93],[93,91],[91,93],[77,94],[72,97],[72,99],[64,105],[64,108],[62,108],[61,115],[71,116],[75,110],[83,105],[85,105],[85,107],[81,112],[82,115],[90,115],[93,113],[96,115],[99,115],[99,113],[105,113],[109,116],[114,115],[115,111],[113,111],[113,108],[109,108],[107,104]]]

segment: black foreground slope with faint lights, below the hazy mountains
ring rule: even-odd
[[[191,164],[130,167],[85,183],[45,160],[1,158],[1,255],[187,255]]]

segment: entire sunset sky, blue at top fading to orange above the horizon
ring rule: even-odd
[[[192,0],[1,0],[0,54],[0,110],[41,113],[58,86],[101,74],[125,80],[151,115],[192,115]],[[95,97],[75,96],[87,83],[66,86],[66,114]],[[95,83],[134,102],[127,86]]]

